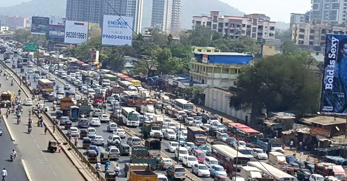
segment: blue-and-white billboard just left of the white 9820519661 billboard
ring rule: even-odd
[[[66,18],[50,17],[48,37],[64,38]]]

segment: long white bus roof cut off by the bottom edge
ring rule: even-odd
[[[285,173],[277,168],[274,168],[273,166],[267,163],[247,162],[247,166],[253,166],[259,169],[260,171],[263,172],[263,174],[266,175],[266,178],[274,179],[275,181],[297,181],[298,180],[292,175],[289,175],[288,173]]]

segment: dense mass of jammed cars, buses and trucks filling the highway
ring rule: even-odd
[[[32,53],[6,49],[14,51],[18,55],[4,55],[5,63],[40,94],[40,103],[35,105],[30,98],[25,102],[48,112],[105,177],[112,173],[119,179],[135,174],[150,181],[346,178],[344,172],[324,172],[327,165],[286,155],[281,138],[264,138],[240,123],[222,124],[219,115],[142,87],[141,81],[125,73],[76,58],[63,61],[58,52],[40,49],[44,56],[36,59]]]

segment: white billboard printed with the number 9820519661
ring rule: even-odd
[[[64,43],[85,43],[88,38],[88,22],[66,20],[64,37]]]

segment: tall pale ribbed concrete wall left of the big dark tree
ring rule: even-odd
[[[245,121],[248,116],[248,123],[251,122],[251,109],[247,111],[235,110],[229,107],[229,95],[230,92],[217,89],[217,88],[205,88],[205,106],[211,109],[223,112],[227,115],[239,118]]]

